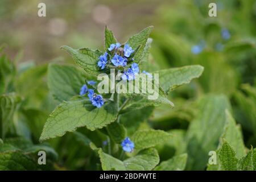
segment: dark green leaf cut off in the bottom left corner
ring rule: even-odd
[[[0,153],[0,170],[24,171],[36,170],[34,160],[20,151],[1,152]]]

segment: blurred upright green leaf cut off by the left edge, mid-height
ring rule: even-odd
[[[0,137],[3,139],[11,122],[13,122],[13,114],[16,110],[20,98],[15,94],[6,94],[0,96]]]

